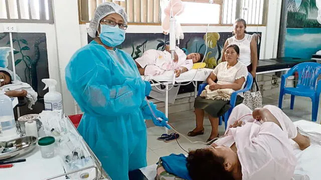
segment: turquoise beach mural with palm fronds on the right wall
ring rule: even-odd
[[[311,58],[321,50],[321,24],[315,0],[287,0],[285,56]]]

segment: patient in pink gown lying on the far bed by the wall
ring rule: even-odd
[[[186,55],[177,47],[173,61],[169,49],[169,46],[166,46],[164,51],[149,49],[135,59],[140,75],[161,75],[167,70],[175,70],[178,77],[181,73],[192,69],[193,63],[200,62],[204,57],[201,53]]]

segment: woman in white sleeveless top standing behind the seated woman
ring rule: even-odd
[[[247,66],[247,69],[253,77],[255,77],[256,66],[257,66],[257,47],[256,47],[256,36],[246,33],[246,21],[242,18],[235,20],[233,25],[233,35],[228,38],[224,44],[224,50],[229,44],[236,44],[240,48],[239,61]],[[222,61],[225,61],[224,55]]]

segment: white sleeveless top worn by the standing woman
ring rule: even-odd
[[[236,44],[240,48],[240,57],[239,61],[244,63],[246,66],[250,65],[251,62],[251,40],[253,35],[245,34],[244,38],[237,40],[235,35],[228,38],[229,44]]]

